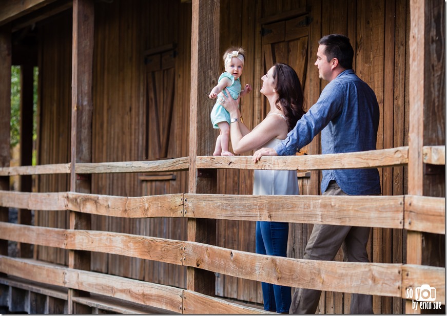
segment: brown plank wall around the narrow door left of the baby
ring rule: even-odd
[[[144,51],[173,43],[178,56],[168,157],[188,156],[190,5],[168,2],[116,1],[95,8],[94,162],[147,159],[146,117],[149,124],[154,118],[147,113]],[[121,196],[187,192],[187,172],[174,172],[174,180],[156,181],[149,176],[143,181],[141,176],[94,175],[92,192]],[[184,219],[95,217],[92,224],[93,229],[186,240]],[[116,255],[94,256],[93,270],[186,286],[186,269],[179,266]]]

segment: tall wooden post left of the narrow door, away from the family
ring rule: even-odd
[[[92,67],[94,40],[94,3],[73,1],[73,51],[71,91],[71,177],[72,192],[91,193],[91,178],[76,175],[77,162],[91,162],[92,143]],[[70,229],[90,229],[91,216],[70,211]],[[90,270],[90,252],[70,250],[68,266]],[[87,306],[74,304],[72,297],[88,293],[69,289],[68,312],[91,313]]]

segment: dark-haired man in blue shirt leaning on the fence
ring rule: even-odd
[[[297,122],[287,138],[274,149],[262,148],[261,156],[295,155],[321,131],[322,154],[376,149],[379,106],[374,91],[352,69],[354,50],[349,38],[326,35],[319,42],[317,61],[320,78],[329,81],[317,103]],[[323,195],[379,195],[379,172],[372,169],[323,170]],[[315,224],[304,259],[334,260],[340,246],[345,261],[369,262],[366,243],[370,227]],[[297,289],[290,313],[315,313],[321,291]],[[351,313],[373,313],[372,296],[353,294]]]

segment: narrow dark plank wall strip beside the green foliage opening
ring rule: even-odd
[[[71,30],[71,11],[40,28],[37,164],[70,162]],[[37,182],[40,192],[70,189],[69,175],[42,175]],[[37,211],[35,224],[67,228],[68,213]],[[68,265],[66,250],[36,246],[34,252],[38,259]]]

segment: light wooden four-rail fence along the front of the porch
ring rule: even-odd
[[[445,164],[445,147],[425,146],[423,161]],[[251,156],[198,156],[196,159],[196,167],[202,169],[323,170],[388,167],[407,163],[407,147],[333,155],[262,157],[256,164],[252,162]],[[164,161],[77,163],[75,173],[161,172],[188,170],[188,167],[189,157],[183,157]],[[64,173],[71,173],[69,163],[0,168],[0,176]],[[0,207],[71,210],[122,218],[187,217],[353,226],[367,224],[445,234],[445,198],[412,195],[252,196],[185,193],[119,197],[74,192],[0,191]],[[282,258],[192,241],[7,222],[0,222],[0,239],[70,250],[98,251],[195,267],[249,280],[325,291],[406,299],[409,290],[430,284],[437,290],[436,301],[445,304],[445,267]],[[72,269],[33,259],[0,256],[0,272],[8,275],[7,278],[0,278],[0,285],[10,290],[21,288],[28,293],[46,296],[46,302],[42,303],[45,309],[40,313],[54,311],[48,307],[49,298],[87,305],[97,311],[120,313],[147,313],[145,306],[154,307],[158,311],[185,314],[265,312],[187,289]],[[14,278],[26,279],[28,283]],[[70,296],[66,289],[86,291],[90,296]],[[107,298],[124,300],[130,305],[107,301]],[[31,305],[28,304],[28,307]]]

